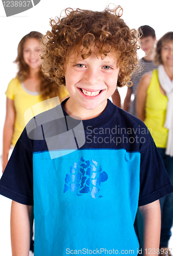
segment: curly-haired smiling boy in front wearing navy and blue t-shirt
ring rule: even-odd
[[[137,32],[120,13],[67,9],[51,20],[43,69],[71,96],[27,124],[2,176],[13,255],[28,256],[33,216],[35,256],[137,255],[139,243],[159,253],[159,198],[172,184],[143,122],[108,99],[138,62]]]

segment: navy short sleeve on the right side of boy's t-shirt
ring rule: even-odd
[[[139,206],[152,203],[172,192],[169,176],[152,140],[141,152]]]

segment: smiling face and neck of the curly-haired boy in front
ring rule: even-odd
[[[79,54],[73,65],[65,66],[66,87],[71,97],[64,108],[67,113],[79,115],[82,119],[98,116],[107,104],[107,99],[114,93],[117,85],[119,67],[115,55],[109,54],[103,59],[95,56],[82,59]],[[85,118],[89,114],[89,118]]]

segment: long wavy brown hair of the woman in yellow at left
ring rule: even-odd
[[[14,60],[14,63],[17,63],[18,65],[18,72],[16,77],[20,80],[20,82],[24,82],[27,78],[29,78],[30,75],[30,69],[27,63],[24,61],[23,57],[23,49],[24,49],[24,43],[26,40],[30,38],[35,38],[39,42],[42,38],[42,34],[37,31],[31,31],[29,34],[25,35],[23,38],[21,38],[18,48],[17,48],[17,57]],[[40,80],[40,87],[39,87],[39,93],[43,100],[48,98],[53,98],[58,96],[58,87],[57,84],[54,82],[52,83],[50,80],[48,80],[44,73],[41,71],[41,69],[38,72],[38,78]]]

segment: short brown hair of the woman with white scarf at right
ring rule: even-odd
[[[165,45],[166,42],[168,41],[173,41],[173,32],[167,32],[166,34],[164,34],[157,42],[157,46],[156,46],[156,54],[154,57],[154,61],[157,65],[162,65],[163,61],[161,58],[161,51],[162,51],[162,47]]]

